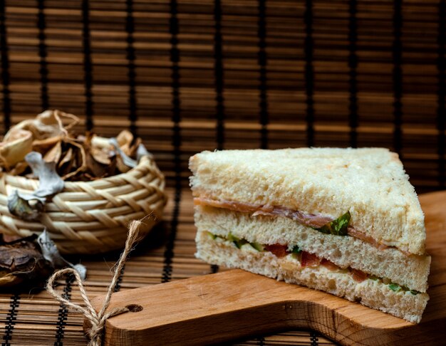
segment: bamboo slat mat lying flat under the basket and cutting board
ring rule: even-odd
[[[194,257],[195,226],[193,203],[189,189],[169,191],[163,223],[140,242],[125,264],[116,290],[130,290],[143,285],[201,276],[225,268],[209,266]],[[94,258],[83,257],[88,269],[86,288],[90,297],[103,295],[111,280],[110,268],[119,253]],[[75,258],[71,258],[76,261]],[[59,281],[58,289],[71,300],[81,303],[77,286],[68,280]],[[2,345],[85,345],[83,318],[71,313],[53,300],[44,290],[16,293],[9,290],[0,294],[0,332]],[[159,340],[162,345],[162,340]],[[322,335],[309,330],[295,330],[276,335],[259,335],[251,340],[237,341],[234,345],[336,345]]]

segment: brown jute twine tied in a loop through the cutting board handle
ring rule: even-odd
[[[48,293],[50,293],[53,296],[53,298],[56,298],[56,300],[61,302],[63,305],[66,305],[70,308],[73,308],[73,310],[82,313],[85,316],[85,318],[87,318],[90,321],[91,328],[90,331],[88,332],[88,337],[90,337],[90,342],[88,342],[88,346],[102,345],[103,332],[104,332],[105,322],[107,321],[107,319],[112,316],[119,315],[120,313],[126,313],[129,311],[128,308],[114,308],[113,310],[110,310],[107,313],[105,313],[105,310],[107,310],[108,305],[110,305],[111,295],[113,293],[116,283],[118,282],[119,274],[123,269],[128,253],[131,251],[133,243],[135,243],[136,238],[138,237],[138,229],[140,228],[140,224],[141,221],[132,221],[130,223],[127,240],[125,241],[124,251],[123,253],[121,253],[118,265],[116,266],[115,273],[113,275],[113,280],[108,286],[107,295],[105,296],[102,308],[98,313],[96,313],[95,309],[93,308],[93,305],[91,305],[90,303],[90,298],[88,298],[88,295],[85,292],[81,276],[79,276],[78,272],[75,271],[73,268],[65,268],[61,269],[60,271],[56,271],[56,273],[53,273],[51,278],[48,279],[48,283],[46,284],[46,290],[48,291]],[[85,308],[83,308],[81,305],[71,303],[66,298],[63,298],[62,295],[56,292],[56,290],[54,290],[53,288],[54,281],[56,281],[59,277],[68,273],[73,274],[74,277],[76,278],[79,290],[81,291],[83,302],[85,303]]]

